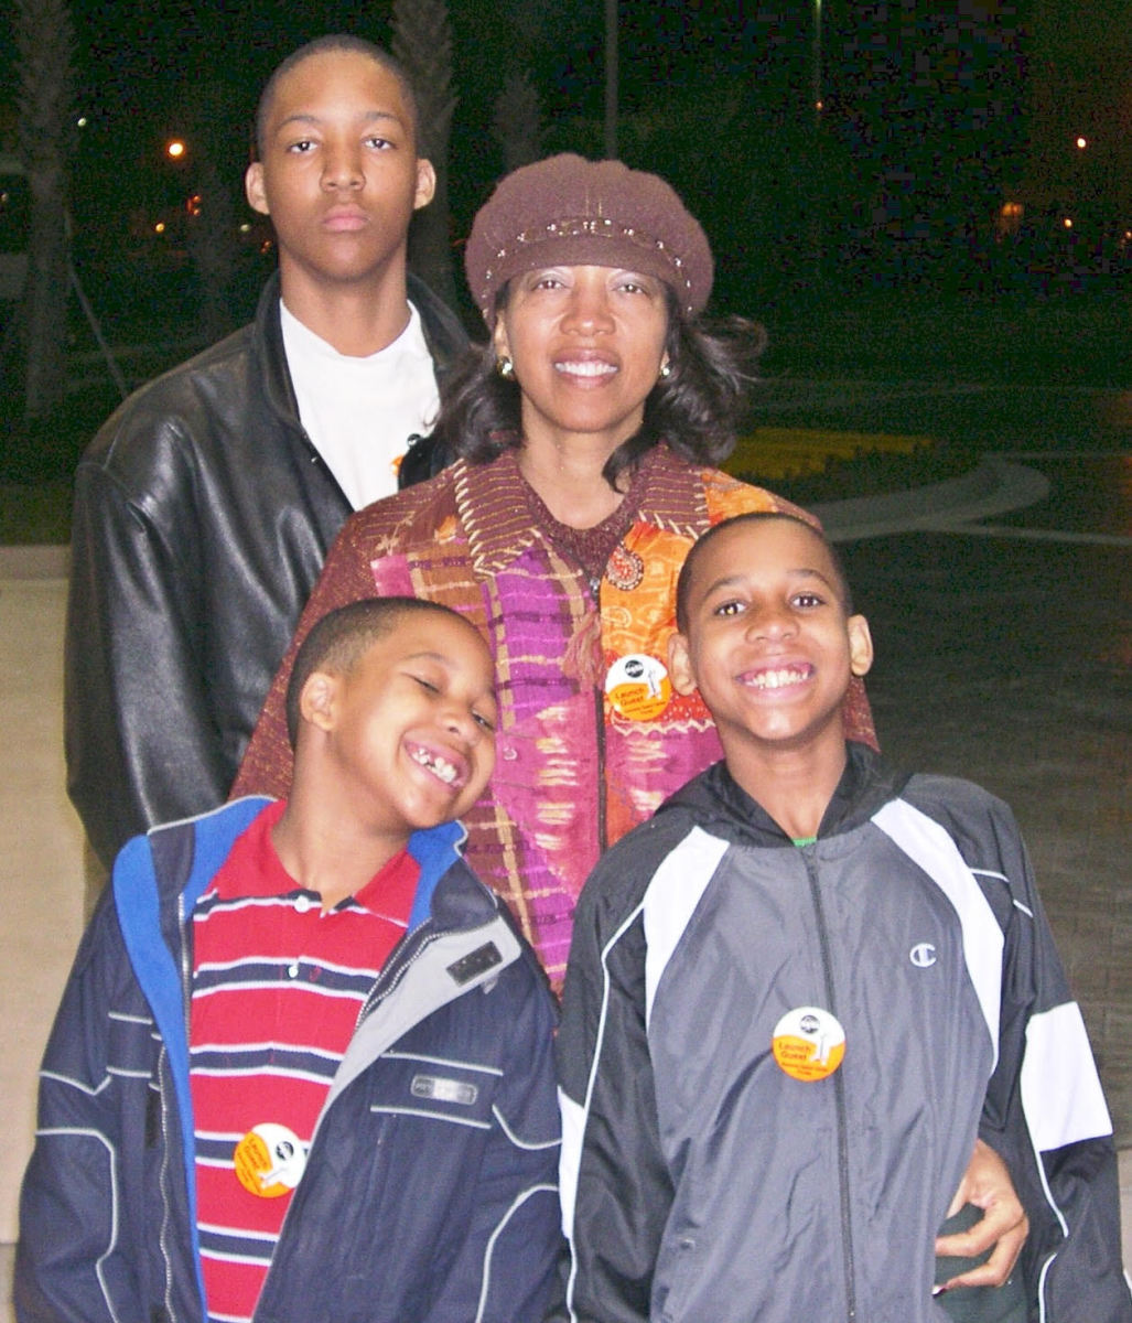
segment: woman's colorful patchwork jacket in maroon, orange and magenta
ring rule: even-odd
[[[459,460],[354,515],[331,549],[233,790],[287,792],[287,679],[315,620],[390,594],[460,611],[492,646],[500,703],[495,777],[465,818],[467,859],[510,905],[555,987],[578,893],[602,851],[721,757],[698,695],[673,693],[667,675],[689,546],[731,515],[801,513],[664,447],[648,466],[637,519],[596,583],[532,527],[514,451],[489,464]],[[848,733],[871,742],[864,691],[853,699]]]

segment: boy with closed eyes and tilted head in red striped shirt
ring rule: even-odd
[[[540,1319],[554,1003],[455,820],[495,763],[462,617],[357,602],[288,695],[288,802],[118,856],[48,1045],[20,1323]]]

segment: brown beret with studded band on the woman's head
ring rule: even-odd
[[[689,316],[711,292],[708,237],[660,176],[569,152],[500,180],[464,250],[468,287],[488,321],[512,277],[558,265],[656,277]]]

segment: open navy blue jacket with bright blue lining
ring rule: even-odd
[[[132,840],[40,1082],[20,1323],[200,1323],[188,996],[193,905],[268,800]],[[553,998],[501,902],[418,832],[421,881],[331,1086],[257,1323],[521,1323],[561,1248]]]

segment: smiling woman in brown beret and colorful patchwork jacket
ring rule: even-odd
[[[558,984],[600,851],[719,757],[665,667],[684,554],[709,524],[786,503],[705,467],[731,447],[743,376],[696,325],[711,253],[663,180],[570,155],[525,167],[465,263],[492,337],[432,438],[459,458],[346,524],[298,638],[333,606],[410,593],[489,639],[499,758],[468,859]],[[286,792],[291,655],[237,792]],[[853,729],[871,738],[864,703]]]

